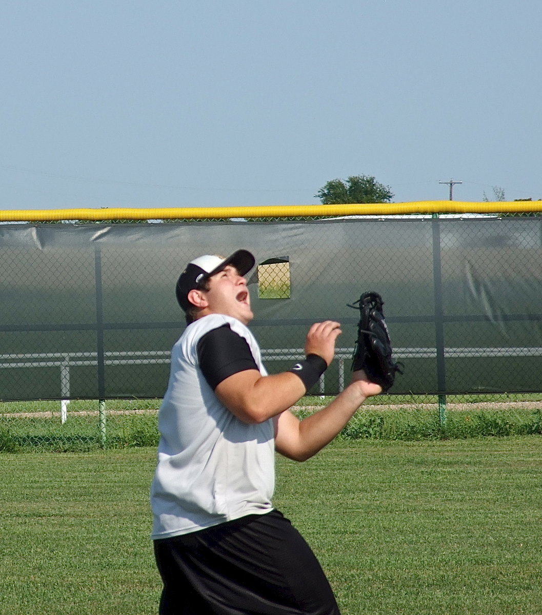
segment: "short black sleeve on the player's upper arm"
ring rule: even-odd
[[[247,340],[229,325],[205,333],[196,349],[199,367],[213,391],[238,371],[258,369]]]

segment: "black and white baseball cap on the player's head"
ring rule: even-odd
[[[185,271],[181,273],[175,286],[177,301],[183,310],[189,308],[188,293],[194,288],[198,288],[202,282],[214,276],[228,265],[233,265],[240,276],[247,274],[256,263],[254,256],[248,250],[237,250],[228,258],[223,256],[205,254],[198,256],[186,265]]]

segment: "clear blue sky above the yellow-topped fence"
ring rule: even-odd
[[[4,0],[0,208],[542,199],[540,0]]]

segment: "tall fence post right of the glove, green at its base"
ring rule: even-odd
[[[444,362],[444,307],[442,302],[442,263],[440,260],[440,223],[439,214],[432,216],[433,250],[433,292],[435,313],[435,346],[437,351],[437,388],[446,390],[446,368]],[[439,394],[439,421],[444,427],[447,421],[446,395]]]

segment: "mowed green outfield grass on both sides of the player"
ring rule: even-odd
[[[156,450],[0,454],[0,613],[151,614]],[[276,506],[343,615],[542,614],[542,438],[340,440]]]

